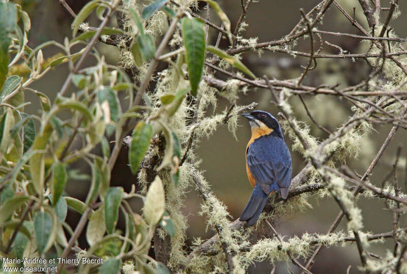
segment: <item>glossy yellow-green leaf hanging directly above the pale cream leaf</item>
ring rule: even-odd
[[[140,121],[133,129],[131,145],[129,149],[129,164],[133,174],[138,170],[140,161],[146,154],[150,145],[150,140],[153,138],[153,127]]]

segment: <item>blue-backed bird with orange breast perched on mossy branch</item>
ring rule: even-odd
[[[292,163],[283,133],[276,118],[265,111],[243,113],[249,120],[251,139],[246,147],[246,172],[254,187],[240,216],[253,225],[266,205],[269,194],[277,191],[287,198],[291,183]]]

